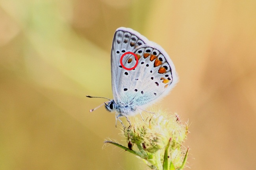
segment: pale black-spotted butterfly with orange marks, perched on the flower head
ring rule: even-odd
[[[134,53],[137,58],[128,54],[120,60],[126,52]],[[127,69],[133,68],[136,62],[134,69]],[[171,58],[160,45],[131,28],[120,27],[112,42],[111,80],[114,99],[105,98],[109,101],[100,106],[105,105],[109,112],[116,112],[116,124],[117,120],[122,124],[119,117],[126,117],[130,123],[128,116],[141,113],[167,95],[178,82],[178,75]]]

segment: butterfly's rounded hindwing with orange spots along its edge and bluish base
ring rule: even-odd
[[[134,53],[139,57],[139,64],[134,70],[121,73],[119,94],[122,101],[119,104],[143,107],[167,95],[178,76],[173,62],[158,44],[149,42],[139,46]],[[135,62],[131,55],[123,60],[127,68],[134,66]]]

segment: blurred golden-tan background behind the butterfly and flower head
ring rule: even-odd
[[[0,0],[0,169],[147,169],[103,144],[121,130],[104,107],[89,112],[105,99],[85,97],[113,97],[121,26],[176,66],[180,82],[157,107],[189,120],[187,165],[255,169],[255,9],[255,0]]]

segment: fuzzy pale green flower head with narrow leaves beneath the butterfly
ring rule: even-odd
[[[187,159],[182,143],[187,137],[187,124],[182,124],[178,115],[159,111],[145,121],[135,118],[131,126],[124,128],[127,146],[119,146],[145,160],[148,166],[158,170],[183,169]]]

